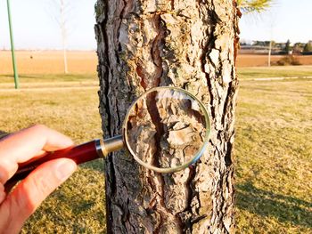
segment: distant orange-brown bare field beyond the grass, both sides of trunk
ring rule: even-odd
[[[302,65],[312,65],[312,55],[295,56]],[[62,52],[59,51],[18,51],[16,52],[18,70],[21,74],[60,74],[63,72]],[[271,61],[282,59],[281,55],[271,56]],[[96,52],[68,52],[69,72],[89,74],[96,71]],[[267,55],[239,54],[237,67],[267,66]],[[0,52],[0,74],[11,74],[11,52]]]

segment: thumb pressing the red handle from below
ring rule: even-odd
[[[0,207],[7,212],[8,230],[20,230],[22,224],[35,212],[37,206],[77,168],[68,158],[54,159],[37,167],[21,181]],[[6,210],[6,211],[5,211]]]

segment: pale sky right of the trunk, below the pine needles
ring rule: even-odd
[[[261,15],[243,15],[241,38],[307,43],[312,40],[312,1],[273,0],[271,9]]]

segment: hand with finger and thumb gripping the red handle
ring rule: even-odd
[[[19,164],[72,144],[70,138],[45,125],[29,127],[0,141],[0,233],[18,233],[41,202],[77,168],[69,158],[45,162],[6,194],[4,184]]]

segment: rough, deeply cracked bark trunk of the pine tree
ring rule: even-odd
[[[234,232],[237,11],[231,0],[97,1],[104,136],[119,134],[132,101],[162,85],[196,95],[212,125],[204,155],[178,173],[149,171],[125,150],[105,160],[108,233]]]

